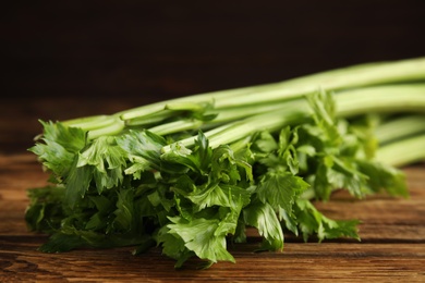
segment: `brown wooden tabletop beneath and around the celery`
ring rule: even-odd
[[[236,263],[219,262],[208,270],[189,262],[174,270],[174,261],[159,249],[133,256],[131,248],[80,249],[42,254],[37,247],[46,235],[27,231],[26,190],[46,184],[46,173],[26,149],[39,133],[37,119],[65,119],[92,112],[124,109],[135,101],[37,100],[0,106],[0,281],[1,282],[161,282],[161,281],[425,281],[425,165],[403,169],[408,199],[376,195],[354,200],[337,193],[327,204],[316,204],[333,219],[359,219],[361,242],[352,239],[303,243],[289,236],[282,253],[254,253],[259,238],[230,247]],[[56,107],[52,108],[51,106]],[[66,109],[66,112],[60,110]],[[15,119],[8,119],[14,114]]]

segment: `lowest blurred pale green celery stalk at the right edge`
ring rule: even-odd
[[[425,160],[425,135],[416,135],[381,146],[375,159],[392,167],[404,167]]]

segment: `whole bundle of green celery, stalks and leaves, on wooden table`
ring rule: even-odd
[[[425,58],[160,101],[111,115],[40,121],[29,150],[50,173],[28,189],[40,250],[161,248],[181,267],[234,261],[227,245],[286,233],[357,238],[314,201],[409,196],[400,167],[425,158]]]

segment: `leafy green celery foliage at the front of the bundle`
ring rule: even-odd
[[[130,111],[121,115],[131,116],[127,127],[96,138],[40,121],[44,133],[29,150],[51,173],[51,184],[28,190],[28,229],[51,235],[40,247],[46,253],[158,247],[175,268],[192,257],[204,267],[235,262],[227,247],[244,243],[247,227],[263,237],[259,250],[282,250],[287,233],[304,241],[360,239],[357,220],[331,220],[314,201],[329,200],[336,189],[355,198],[382,190],[406,197],[404,175],[374,160],[367,119],[339,116],[329,91],[303,99],[299,121],[274,112],[263,123],[264,115],[247,111],[250,119],[236,127],[217,122],[220,110],[210,102],[166,103],[147,111],[146,121],[137,116],[143,109]],[[233,110],[239,118],[241,109]],[[161,135],[142,126],[179,120],[212,124],[207,133],[196,126]],[[232,142],[210,146],[227,139]]]

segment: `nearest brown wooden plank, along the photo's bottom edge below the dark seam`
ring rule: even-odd
[[[425,280],[424,244],[291,243],[283,253],[263,254],[252,253],[255,244],[244,244],[230,249],[236,263],[220,262],[197,270],[199,262],[190,261],[184,269],[174,270],[173,260],[158,249],[136,257],[125,248],[40,254],[35,248],[41,241],[1,236],[0,245],[9,250],[0,251],[0,275],[8,280],[77,282]]]

